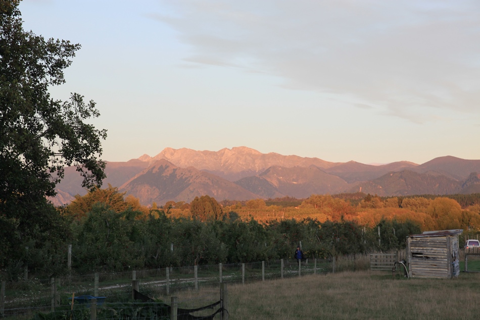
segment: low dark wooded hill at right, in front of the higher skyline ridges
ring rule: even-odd
[[[437,172],[417,173],[411,170],[391,172],[368,182],[361,182],[350,192],[387,195],[453,194],[461,190],[461,182]]]

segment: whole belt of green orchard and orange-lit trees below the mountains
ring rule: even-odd
[[[424,230],[464,229],[464,237],[474,237],[480,226],[476,206],[462,209],[446,197],[367,194],[353,206],[348,198],[312,195],[283,207],[262,199],[221,206],[203,196],[147,208],[124,196],[111,186],[77,196],[59,208],[63,233],[39,237],[47,241],[45,249],[28,250],[17,263],[13,257],[2,277],[18,279],[27,263],[30,272],[49,277],[68,273],[67,243],[73,245],[76,273],[119,272],[273,261],[291,258],[300,243],[308,258],[388,251],[404,248],[406,236]]]

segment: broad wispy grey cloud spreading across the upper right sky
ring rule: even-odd
[[[189,63],[282,77],[283,86],[355,97],[386,114],[480,110],[480,2],[175,0],[153,17],[188,44]]]

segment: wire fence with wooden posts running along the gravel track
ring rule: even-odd
[[[363,262],[367,260],[367,262]],[[132,290],[137,290],[157,302],[168,300],[179,291],[202,292],[201,295],[178,301],[180,309],[209,305],[218,300],[219,283],[253,283],[344,270],[368,270],[368,259],[360,256],[337,259],[274,260],[251,263],[225,263],[139,270],[123,273],[72,275],[64,278],[30,279],[2,283],[5,292],[0,312],[5,318],[31,319],[41,312],[47,319],[89,319],[90,304],[77,303],[75,297],[103,297],[98,303],[98,318],[168,318],[161,306],[133,301]],[[364,264],[366,267],[364,268]],[[362,266],[362,267],[361,267]],[[209,291],[210,290],[210,291]],[[210,292],[210,293],[208,293]],[[75,303],[72,305],[72,301]],[[100,300],[99,300],[100,301]],[[160,304],[161,305],[161,304]],[[122,311],[113,312],[112,310]],[[110,310],[110,311],[109,311]],[[204,310],[200,313],[208,313]],[[110,313],[109,313],[110,312]],[[123,313],[122,313],[123,312]],[[146,317],[147,316],[147,317]],[[151,317],[150,317],[151,316]],[[165,316],[165,317],[164,317]],[[38,318],[38,317],[37,317]]]

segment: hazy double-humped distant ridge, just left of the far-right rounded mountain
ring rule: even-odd
[[[417,164],[400,161],[388,165],[371,166],[361,164],[355,161],[349,161],[344,164],[325,169],[325,172],[338,176],[348,183],[357,181],[367,181],[381,177],[391,171],[401,171],[418,166]]]

